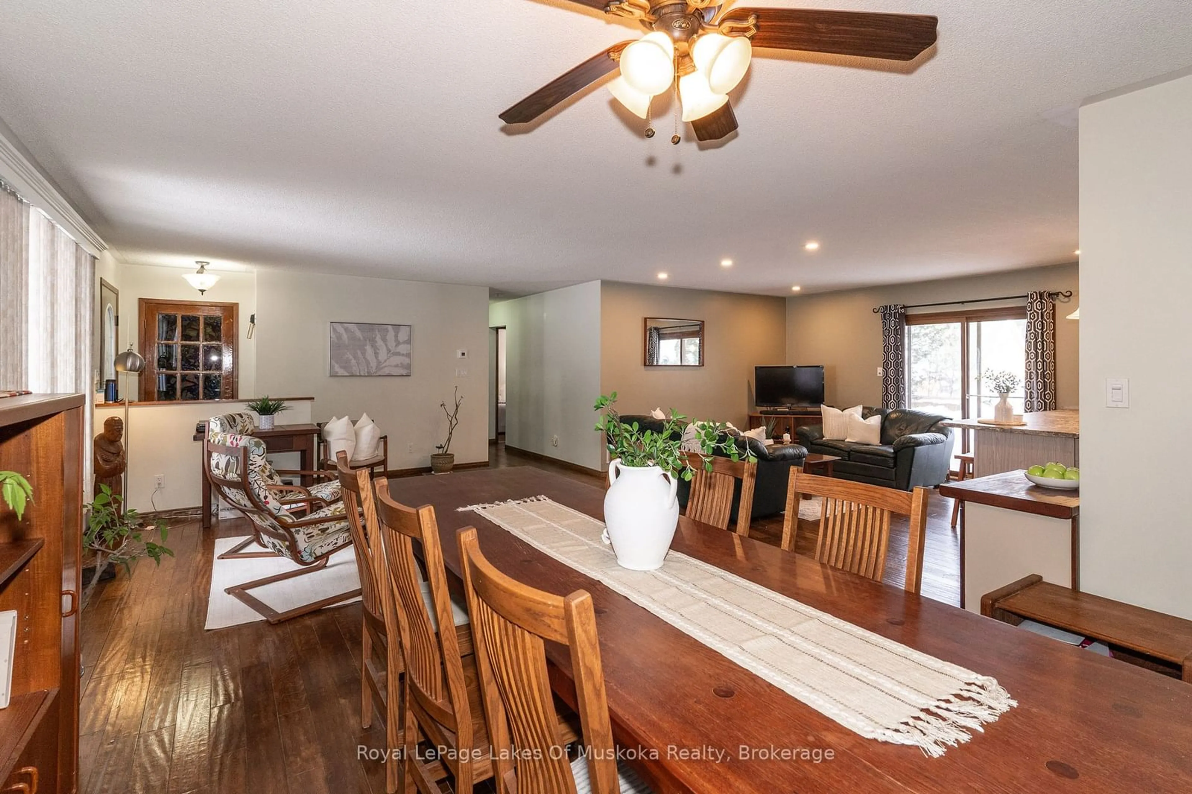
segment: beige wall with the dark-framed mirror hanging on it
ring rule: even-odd
[[[703,366],[646,367],[645,317],[702,320]],[[745,427],[753,367],[786,361],[786,323],[782,298],[602,281],[601,391],[616,391],[623,414],[660,407]]]

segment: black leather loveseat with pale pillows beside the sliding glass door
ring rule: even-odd
[[[909,408],[886,411],[864,408],[862,417],[882,415],[881,443],[857,443],[824,438],[824,426],[809,424],[796,430],[808,452],[836,455],[833,474],[858,483],[909,491],[917,485],[933,488],[948,479],[951,467],[952,430],[937,416]]]

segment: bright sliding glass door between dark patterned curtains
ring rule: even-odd
[[[907,315],[908,405],[957,418],[991,418],[999,397],[981,374],[1026,373],[1026,308]],[[1010,395],[1018,412],[1023,386]],[[952,454],[971,449],[969,432],[952,435]]]

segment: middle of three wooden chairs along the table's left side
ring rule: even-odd
[[[492,761],[467,612],[452,604],[435,509],[395,502],[384,477],[377,478],[375,492],[395,606],[392,631],[401,637],[405,659],[402,755],[406,790],[412,782],[423,794],[437,794],[439,782],[449,773],[455,792],[471,792],[474,783],[492,777]],[[415,541],[421,545],[426,577],[415,557]],[[423,740],[439,749],[437,763],[418,758]]]

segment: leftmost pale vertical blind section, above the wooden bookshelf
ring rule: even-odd
[[[0,390],[29,389],[29,204],[0,182]]]

